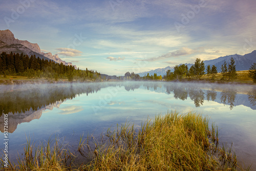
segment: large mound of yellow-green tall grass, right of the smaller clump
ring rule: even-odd
[[[231,149],[219,147],[218,127],[208,124],[208,118],[191,112],[158,115],[139,128],[122,124],[106,132],[105,143],[95,146],[94,159],[79,169],[246,170]]]

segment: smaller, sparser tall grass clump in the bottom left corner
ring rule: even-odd
[[[8,167],[4,168],[4,161],[1,159],[3,170],[66,170],[72,167],[75,159],[67,145],[60,140],[49,138],[48,141],[35,146],[35,142],[27,138],[24,147],[24,157],[18,154],[17,164],[8,161]],[[23,154],[22,154],[23,156]]]

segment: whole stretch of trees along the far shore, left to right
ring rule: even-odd
[[[230,63],[226,61],[221,66],[222,74],[221,80],[234,81],[237,79],[238,74],[236,71],[236,65],[234,59],[230,59]],[[215,80],[218,74],[217,67],[215,65],[205,67],[204,61],[200,58],[195,60],[193,66],[188,68],[186,65],[177,65],[174,67],[174,72],[168,70],[163,76],[157,75],[144,75],[143,77],[134,72],[126,72],[124,76],[108,76],[106,74],[100,74],[93,70],[79,70],[74,66],[66,66],[63,63],[56,63],[53,60],[41,59],[35,55],[24,55],[23,53],[10,53],[2,52],[0,55],[0,74],[13,75],[13,76],[27,76],[28,78],[46,78],[46,79],[68,79],[69,81],[103,81],[109,79],[116,80],[182,80],[182,79],[201,79],[203,75],[207,75],[208,79]],[[210,78],[211,77],[211,78]],[[256,63],[253,63],[248,71],[248,77],[256,82]]]

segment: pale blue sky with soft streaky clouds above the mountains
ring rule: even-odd
[[[256,50],[255,0],[2,0],[0,30],[108,75]]]

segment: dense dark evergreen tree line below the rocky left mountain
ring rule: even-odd
[[[28,77],[45,78],[68,78],[85,81],[87,79],[100,80],[100,73],[97,71],[76,70],[74,66],[66,66],[63,63],[56,63],[53,60],[36,58],[35,55],[24,55],[23,53],[2,52],[0,55],[0,74],[18,75]]]

